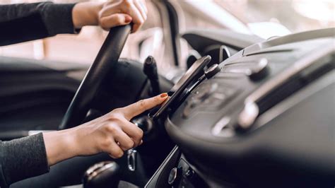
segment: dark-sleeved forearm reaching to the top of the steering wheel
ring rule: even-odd
[[[75,33],[73,7],[51,2],[0,5],[0,46]]]

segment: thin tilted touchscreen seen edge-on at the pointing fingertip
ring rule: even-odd
[[[211,61],[210,56],[204,56],[196,60],[194,64],[186,71],[184,76],[172,87],[172,95],[167,98],[167,100],[160,106],[158,110],[151,111],[148,116],[152,119],[156,119],[167,110],[170,105],[175,102],[175,100],[182,94],[185,88],[194,80],[194,76],[198,75],[201,71],[204,70],[204,67]]]

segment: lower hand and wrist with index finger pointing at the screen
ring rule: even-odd
[[[105,152],[120,158],[130,148],[142,143],[143,131],[130,119],[167,99],[167,93],[117,108],[102,117],[63,131],[43,134],[49,165],[77,155]]]

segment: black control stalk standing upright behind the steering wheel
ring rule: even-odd
[[[158,72],[156,61],[152,56],[148,56],[144,61],[143,72],[148,77],[151,84],[151,95],[158,95],[160,93],[160,86],[158,81]]]

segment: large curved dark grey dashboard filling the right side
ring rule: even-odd
[[[146,187],[334,186],[334,28],[242,49],[166,117]]]

